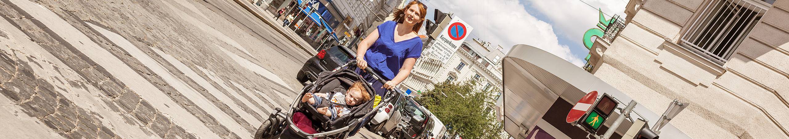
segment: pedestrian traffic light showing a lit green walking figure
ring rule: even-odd
[[[579,124],[584,126],[589,133],[597,133],[597,130],[600,129],[600,126],[603,126],[603,123],[611,116],[611,113],[614,112],[618,104],[619,103],[614,101],[611,96],[604,93],[603,96],[592,105],[592,110],[589,110],[586,116],[578,120],[578,122],[580,122]]]

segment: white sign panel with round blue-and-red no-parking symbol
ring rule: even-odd
[[[436,43],[433,43],[433,46],[430,47],[431,54],[436,56],[436,59],[441,60],[441,62],[447,62],[452,57],[452,54],[458,51],[460,44],[469,37],[469,33],[473,29],[465,21],[460,20],[459,17],[453,17],[439,37],[434,40]]]

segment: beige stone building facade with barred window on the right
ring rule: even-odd
[[[789,0],[631,0],[589,72],[693,138],[789,137]],[[609,28],[610,29],[610,28]]]

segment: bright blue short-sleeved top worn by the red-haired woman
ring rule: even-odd
[[[372,70],[380,73],[387,81],[400,73],[406,58],[422,56],[422,40],[419,37],[394,42],[394,26],[397,22],[386,21],[378,25],[378,39],[365,53],[365,61]]]

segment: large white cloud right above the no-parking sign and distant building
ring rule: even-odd
[[[538,47],[576,66],[583,66],[583,59],[570,53],[570,48],[560,45],[552,25],[540,21],[525,10],[516,0],[430,0],[429,8],[455,13],[474,28],[480,39],[501,44],[509,50],[515,44]],[[580,38],[580,37],[578,37]]]

